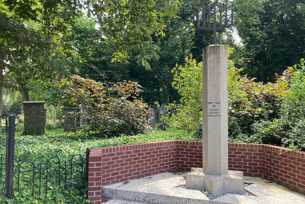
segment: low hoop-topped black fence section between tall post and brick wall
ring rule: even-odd
[[[22,186],[32,189],[32,195],[40,195],[47,194],[48,190],[54,189],[54,187],[66,189],[68,186],[81,183],[83,180],[87,182],[88,165],[86,165],[86,161],[88,161],[89,153],[90,150],[87,149],[86,160],[81,154],[72,155],[68,164],[61,162],[58,157],[50,157],[45,166],[41,164],[35,166],[34,161],[31,160],[22,161],[18,166],[18,171],[14,172],[18,175],[17,191],[20,192],[22,184]],[[53,170],[52,173],[50,170]]]

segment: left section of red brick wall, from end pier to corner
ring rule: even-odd
[[[176,142],[92,149],[89,156],[88,199],[91,203],[101,204],[103,185],[176,169]]]

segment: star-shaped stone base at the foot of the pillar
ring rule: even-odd
[[[222,176],[208,175],[203,173],[202,168],[191,168],[186,174],[186,188],[208,191],[210,194],[222,192],[244,191],[244,179],[242,171],[228,171]]]

